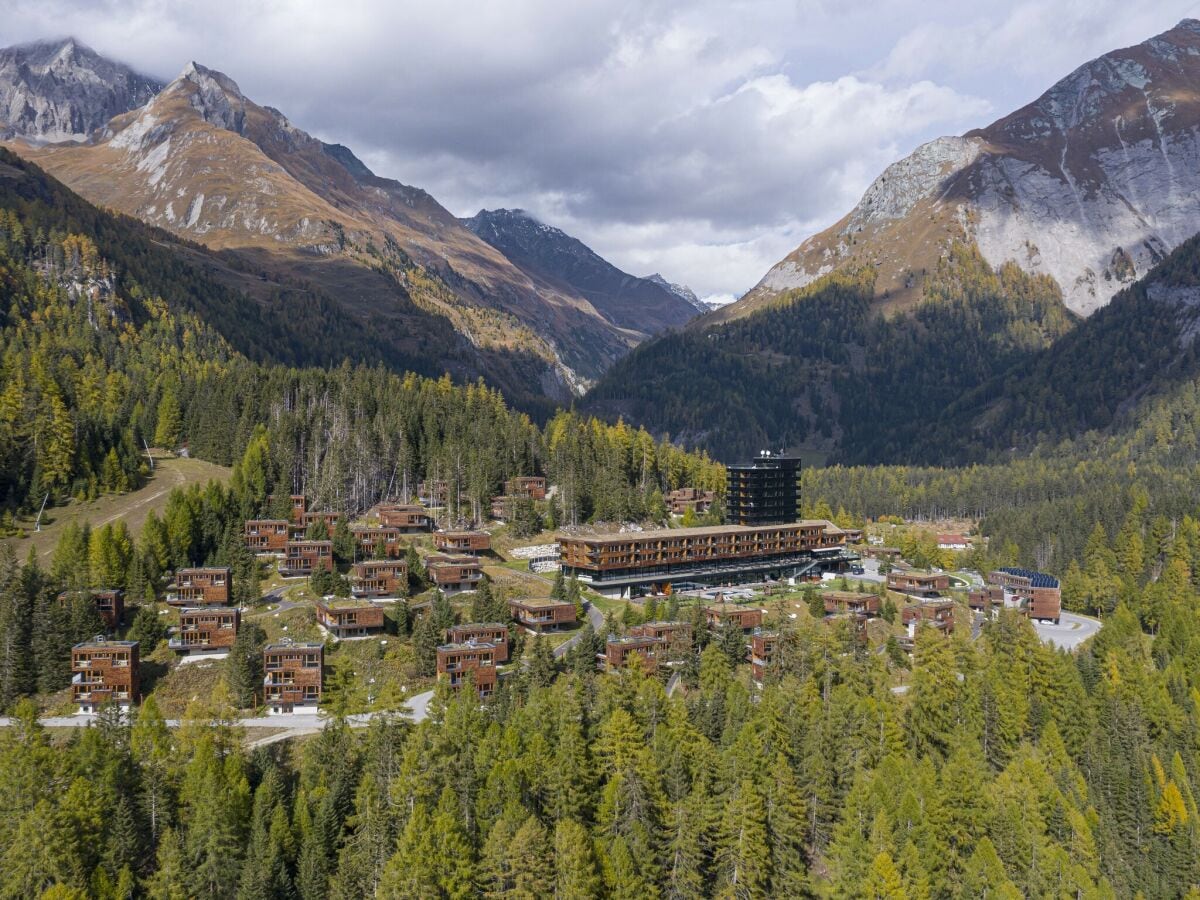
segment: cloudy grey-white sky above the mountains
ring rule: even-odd
[[[0,0],[0,44],[188,60],[458,215],[734,295],[919,143],[1200,0]]]

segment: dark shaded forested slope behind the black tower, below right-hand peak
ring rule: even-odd
[[[731,460],[770,448],[911,461],[946,407],[1073,325],[1050,278],[992,271],[955,244],[911,312],[872,308],[875,272],[839,271],[743,319],[650,341],[586,408]],[[940,460],[929,449],[930,460]]]

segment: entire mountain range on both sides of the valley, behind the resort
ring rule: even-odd
[[[0,136],[162,229],[211,283],[188,308],[252,358],[484,378],[535,414],[586,391],[722,457],[992,458],[1118,427],[1194,373],[1193,19],[918,148],[715,310],[522,210],[456,218],[196,62],[163,84],[74,40],[2,50]]]

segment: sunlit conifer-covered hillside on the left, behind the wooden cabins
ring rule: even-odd
[[[344,360],[332,370],[252,361],[236,344],[269,359],[271,320],[156,240],[31,169],[0,169],[0,512],[10,524],[47,494],[128,490],[146,444],[184,443],[229,464],[263,428],[283,493],[350,511],[407,496],[426,475],[474,514],[505,478],[544,472],[563,485],[554,510],[566,521],[637,518],[661,503],[656,492],[721,487],[720,467],[646,432],[571,414],[539,428],[481,383]],[[336,325],[313,335],[338,359],[343,338]]]

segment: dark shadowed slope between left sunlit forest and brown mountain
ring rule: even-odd
[[[443,316],[416,306],[406,295],[404,274],[389,269],[396,263],[385,252],[390,247],[370,248],[379,271],[362,277],[389,281],[396,307],[367,325],[346,314],[310,280],[268,274],[136,218],[97,209],[2,148],[0,209],[22,229],[19,240],[6,238],[0,250],[6,268],[32,268],[49,276],[50,289],[64,287],[60,272],[40,269],[44,245],[50,235],[86,238],[106,262],[109,287],[130,307],[134,325],[148,318],[140,310],[143,300],[161,300],[175,316],[193,314],[254,361],[336,366],[349,360],[427,377],[449,372],[460,380],[486,372],[492,384],[503,385],[510,402],[540,418],[553,410],[536,383],[544,361],[522,352],[472,347]]]

